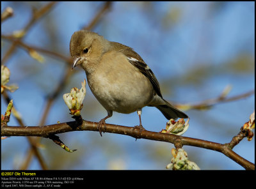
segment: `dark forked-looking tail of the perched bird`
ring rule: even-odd
[[[164,102],[165,102],[164,105],[156,105],[156,108],[162,112],[162,114],[164,115],[164,117],[166,117],[166,119],[177,119],[178,117],[188,118],[188,116],[184,112],[173,107],[173,105],[168,103],[166,100],[164,100]]]

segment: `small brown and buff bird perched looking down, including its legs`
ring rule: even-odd
[[[100,119],[97,128],[106,131],[106,119],[114,112],[130,114],[137,111],[141,124],[141,109],[156,107],[166,119],[188,116],[164,100],[156,76],[131,47],[110,42],[93,31],[79,30],[70,39],[70,56],[73,68],[80,65],[93,95],[107,110],[108,116]],[[134,126],[137,127],[137,126]]]

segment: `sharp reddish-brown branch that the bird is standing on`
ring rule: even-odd
[[[52,135],[65,132],[73,131],[98,131],[97,122],[91,121],[70,121],[67,123],[59,123],[54,125],[47,126],[3,126],[1,128],[1,136],[36,136],[36,137],[45,137],[51,138]],[[176,146],[182,147],[184,145],[202,147],[205,149],[211,149],[223,153],[228,158],[239,163],[244,169],[254,170],[255,165],[248,160],[245,160],[241,156],[237,155],[232,151],[231,147],[228,144],[220,144],[216,142],[211,142],[201,139],[193,139],[189,137],[182,137],[179,135],[173,135],[170,133],[158,133],[150,132],[148,130],[140,131],[138,128],[121,126],[121,125],[111,125],[106,124],[106,131],[108,133],[117,133],[121,135],[129,135],[136,139],[148,139],[148,140],[157,140],[163,142],[170,142]]]

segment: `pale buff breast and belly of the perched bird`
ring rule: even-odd
[[[105,68],[87,75],[92,93],[106,110],[129,114],[152,100],[150,81],[140,72],[129,69]]]

